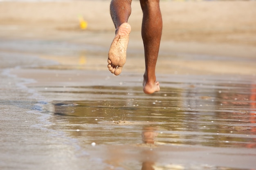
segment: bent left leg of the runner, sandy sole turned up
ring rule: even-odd
[[[110,15],[115,24],[115,38],[108,52],[108,69],[111,73],[119,75],[126,62],[126,50],[131,31],[128,18],[131,13],[132,0],[112,0]]]

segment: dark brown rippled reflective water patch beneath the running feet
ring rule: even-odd
[[[48,87],[51,92],[44,93],[84,95],[85,98],[95,95],[90,100],[53,101],[53,104],[54,119],[74,124],[71,127],[79,129],[80,133],[89,130],[97,144],[109,142],[105,137],[101,139],[104,128],[117,128],[104,132],[104,136],[121,135],[117,143],[133,144],[141,139],[131,137],[127,140],[122,134],[140,136],[141,126],[150,126],[162,132],[155,140],[165,144],[255,148],[256,103],[252,99],[256,97],[256,85],[205,86],[208,85],[198,88],[188,83],[187,88],[162,87],[161,92],[153,97],[142,95],[140,87],[66,87],[68,92],[56,87],[51,91]],[[119,120],[124,121],[121,122],[121,133],[116,122]]]

